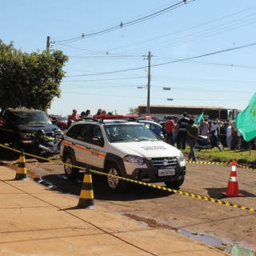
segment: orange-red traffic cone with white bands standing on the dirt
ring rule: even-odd
[[[222,192],[222,194],[226,195],[226,197],[242,197],[243,196],[243,194],[239,193],[236,168],[237,168],[237,162],[233,160],[231,171],[230,171],[230,180],[227,184],[226,192]]]

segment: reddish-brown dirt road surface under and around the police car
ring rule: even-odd
[[[1,150],[0,162],[15,169],[18,157],[10,157],[10,152]],[[188,162],[186,180],[181,187],[188,194],[134,184],[124,194],[112,194],[103,185],[102,177],[93,174],[94,204],[133,218],[141,225],[175,230],[202,241],[205,238],[206,243],[212,240],[212,245],[227,252],[233,245],[256,250],[256,170],[237,166],[239,192],[243,196],[226,198],[222,192],[226,192],[230,168],[230,165]],[[61,164],[39,163],[29,157],[26,158],[26,170],[30,178],[52,190],[79,196],[82,172],[78,181],[70,182]],[[194,195],[218,198],[225,203],[206,201]]]

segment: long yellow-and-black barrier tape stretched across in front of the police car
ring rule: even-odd
[[[8,150],[14,150],[14,151],[16,151],[18,153],[21,152],[19,150],[15,150],[15,149],[10,148],[9,146],[3,145],[1,143],[0,143],[0,146],[6,148]],[[29,153],[26,153],[26,152],[24,152],[23,154],[26,154],[26,155],[34,157],[34,158],[41,158],[42,160],[45,160],[47,162],[54,162],[54,163],[57,163],[57,164],[61,164],[63,166],[70,166],[70,167],[78,168],[79,170],[85,170],[84,167],[70,165],[70,164],[67,164],[67,163],[62,162],[62,161],[56,161],[56,160],[52,160],[52,159],[49,159],[49,158],[42,158],[42,157],[38,157],[38,156],[36,156],[34,154],[29,154]],[[194,162],[194,163],[197,163],[197,162]],[[226,164],[230,164],[230,163],[227,162]],[[254,208],[238,205],[235,202],[227,202],[227,201],[224,201],[222,199],[210,198],[210,197],[206,197],[206,196],[203,196],[203,195],[200,195],[200,194],[193,194],[193,193],[182,191],[182,190],[174,190],[174,189],[167,188],[165,186],[158,186],[158,185],[154,185],[152,183],[140,182],[140,181],[136,181],[136,180],[133,180],[133,179],[130,179],[130,178],[124,178],[124,177],[120,177],[120,176],[115,176],[113,174],[106,174],[106,173],[98,171],[98,170],[90,170],[90,172],[92,172],[94,174],[100,174],[100,175],[110,176],[110,177],[114,177],[114,178],[119,178],[119,179],[122,179],[122,180],[124,180],[126,182],[132,182],[132,183],[143,185],[143,186],[150,186],[150,187],[153,187],[155,189],[172,192],[174,194],[182,194],[182,195],[189,196],[191,198],[202,199],[202,200],[207,201],[207,202],[215,202],[215,203],[218,203],[218,204],[221,204],[221,205],[225,205],[225,206],[231,206],[231,207],[234,207],[234,208],[240,208],[241,210],[249,210],[250,212],[256,212],[256,209],[254,209]]]

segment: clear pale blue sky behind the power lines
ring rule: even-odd
[[[146,105],[149,52],[152,105],[243,110],[256,91],[254,0],[8,0],[1,10],[3,42],[30,53],[50,36],[70,58],[49,114]]]

